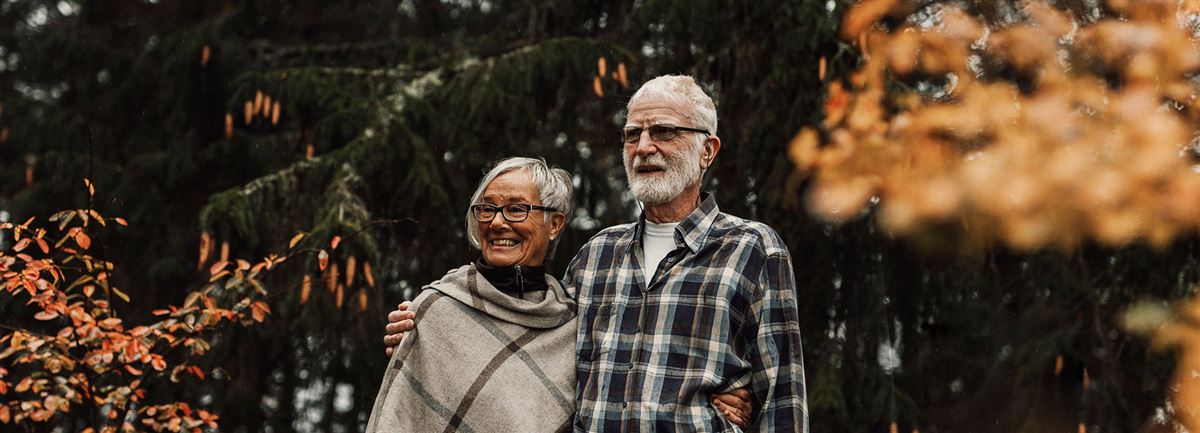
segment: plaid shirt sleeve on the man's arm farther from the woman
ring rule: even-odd
[[[757,410],[750,431],[808,433],[804,351],[791,257],[768,255],[758,284],[762,297],[751,307],[757,326],[749,354],[750,391]]]

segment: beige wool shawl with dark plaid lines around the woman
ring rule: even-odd
[[[367,432],[570,432],[575,303],[546,279],[516,299],[466,265],[425,287]]]

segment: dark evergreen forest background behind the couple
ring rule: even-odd
[[[576,175],[560,272],[595,230],[637,215],[624,103],[649,78],[688,73],[718,101],[724,146],[706,190],[788,241],[812,432],[1154,429],[1172,363],[1116,318],[1192,293],[1194,240],[928,255],[870,215],[810,216],[785,146],[858,61],[838,36],[847,6],[0,1],[0,219],[83,206],[91,179],[95,206],[133,228],[100,240],[126,270],[114,278],[133,319],[206,279],[202,237],[263,257],[298,231],[311,246],[343,236],[331,263],[370,264],[378,284],[318,282],[301,302],[306,273],[338,278],[316,258],[289,263],[271,277],[270,319],[216,338],[203,362],[217,380],[152,391],[203,403],[222,431],[356,432],[386,362],[386,312],[474,257],[462,218],[487,164],[542,156]],[[277,120],[246,121],[259,92]],[[22,308],[0,297],[0,317]]]

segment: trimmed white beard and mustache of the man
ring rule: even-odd
[[[700,181],[703,172],[700,168],[700,151],[702,146],[694,146],[695,150],[684,151],[678,158],[668,160],[661,152],[649,157],[628,155],[625,162],[625,179],[629,180],[629,188],[634,191],[634,197],[644,204],[662,204],[671,202],[683,193],[685,188]],[[660,179],[644,179],[637,175],[636,168],[642,164],[659,166],[664,169]]]

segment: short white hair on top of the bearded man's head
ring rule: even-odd
[[[696,84],[691,76],[660,76],[642,84],[641,89],[629,98],[625,110],[643,102],[666,102],[684,109],[684,118],[692,125],[676,125],[707,130],[716,134],[716,104],[713,98]]]

